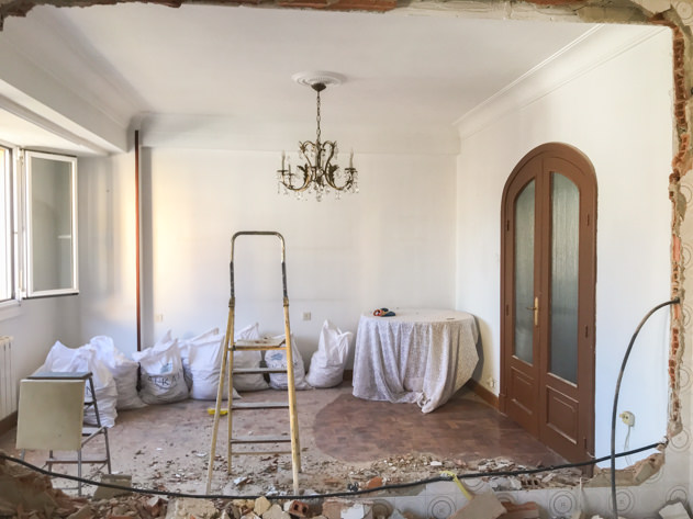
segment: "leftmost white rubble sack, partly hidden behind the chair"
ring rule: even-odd
[[[68,348],[58,340],[53,345],[53,348],[48,351],[46,361],[36,370],[36,373],[46,371],[90,371],[97,405],[99,406],[101,425],[105,427],[113,427],[115,425],[115,417],[118,416],[118,411],[115,410],[115,404],[118,402],[115,381],[109,369],[103,365],[103,362],[97,359],[93,350],[85,347]],[[91,399],[89,383],[87,383],[85,387],[85,399]],[[97,414],[93,406],[89,406],[85,409],[85,422],[92,426],[97,425]]]

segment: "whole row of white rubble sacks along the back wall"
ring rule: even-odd
[[[344,332],[326,320],[321,330],[317,351],[312,358],[311,371],[306,375],[303,358],[292,336],[295,388],[338,385],[343,379],[351,337],[351,332]],[[236,340],[260,338],[257,323],[235,334]],[[283,339],[283,336],[280,338]],[[51,348],[44,364],[36,371],[90,371],[93,374],[101,424],[113,427],[116,409],[136,409],[146,404],[170,404],[188,397],[215,399],[223,351],[224,335],[220,334],[219,328],[189,339],[174,338],[171,330],[168,330],[150,348],[134,352],[132,360],[115,347],[112,338],[98,336],[79,348],[68,348],[57,341]],[[268,368],[286,369],[287,354],[282,350],[268,351],[262,359],[260,351],[234,352],[235,368],[258,368],[262,361]],[[262,374],[235,375],[233,385],[234,398],[239,398],[236,391],[261,391],[270,387],[286,390],[287,375],[271,373],[269,383]],[[226,385],[224,398],[227,391]],[[85,420],[96,424],[93,411],[91,416],[88,411]]]

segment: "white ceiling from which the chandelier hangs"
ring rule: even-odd
[[[314,93],[291,76],[339,72],[346,82],[323,93],[327,131],[450,126],[591,27],[131,3],[38,7],[5,20],[0,45],[122,128],[152,114],[314,124]]]

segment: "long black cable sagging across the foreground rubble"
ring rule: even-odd
[[[637,454],[638,452],[642,452],[642,451],[647,451],[650,449],[656,449],[658,447],[662,447],[664,445],[663,442],[657,442],[657,443],[651,443],[649,445],[646,447],[640,447],[638,449],[633,449],[630,451],[626,451],[626,452],[621,452],[618,454],[616,454],[617,458],[621,456],[627,456],[630,454]],[[498,471],[498,472],[470,472],[470,473],[466,473],[466,474],[458,474],[457,478],[458,479],[472,479],[472,478],[477,478],[477,477],[499,477],[499,476],[518,476],[518,475],[524,475],[524,474],[537,474],[540,472],[552,472],[552,471],[559,471],[562,469],[575,469],[575,467],[580,467],[580,466],[585,466],[585,465],[594,465],[596,463],[601,463],[603,461],[606,461],[611,459],[611,455],[607,456],[603,456],[603,458],[596,458],[594,460],[589,460],[589,461],[583,461],[583,462],[579,462],[579,463],[566,463],[562,465],[551,465],[551,466],[543,466],[543,467],[538,467],[538,469],[524,469],[524,470],[518,470],[518,471]],[[8,454],[4,454],[3,452],[0,452],[0,460],[4,460],[4,461],[10,461],[12,463],[16,463],[19,465],[23,465],[27,469],[31,469],[34,472],[38,472],[40,474],[46,475],[46,476],[51,476],[51,477],[57,477],[57,478],[62,478],[62,479],[69,479],[69,481],[74,481],[74,482],[80,482],[82,484],[87,484],[87,485],[96,485],[96,486],[102,486],[105,488],[114,488],[116,490],[124,490],[124,492],[132,492],[135,494],[147,494],[147,495],[155,495],[155,496],[166,496],[166,497],[188,497],[188,498],[193,498],[193,499],[257,499],[258,497],[261,497],[260,495],[250,495],[250,496],[227,496],[227,495],[223,495],[223,494],[210,494],[210,495],[200,495],[200,494],[186,494],[186,493],[181,493],[181,492],[169,492],[169,490],[157,490],[154,488],[134,488],[134,487],[130,487],[130,486],[123,486],[123,485],[115,485],[112,483],[104,483],[104,482],[94,482],[91,479],[87,479],[85,477],[77,477],[77,476],[71,476],[69,474],[58,474],[55,472],[51,472],[51,471],[46,471],[45,469],[41,469],[36,465],[33,465],[24,460],[20,460],[18,458],[12,458]],[[365,488],[362,490],[354,490],[354,492],[333,492],[329,494],[314,494],[314,495],[309,495],[309,496],[291,496],[291,495],[265,495],[264,497],[266,497],[267,499],[325,499],[328,497],[349,497],[349,496],[358,496],[358,495],[364,495],[364,494],[372,494],[376,492],[382,492],[382,490],[395,490],[395,489],[402,489],[402,488],[411,488],[413,486],[420,486],[420,485],[427,485],[428,483],[437,483],[437,482],[449,482],[452,481],[452,476],[436,476],[436,477],[431,477],[428,479],[418,479],[415,482],[409,482],[409,483],[394,483],[394,484],[390,484],[390,485],[382,485],[376,488]]]

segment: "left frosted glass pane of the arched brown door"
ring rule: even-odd
[[[518,359],[534,362],[534,192],[533,180],[515,202],[515,350]]]

